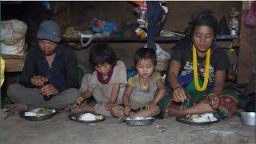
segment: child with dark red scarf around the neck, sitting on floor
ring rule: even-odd
[[[86,74],[82,78],[82,94],[71,107],[71,112],[111,116],[111,108],[122,103],[122,95],[127,84],[126,66],[117,60],[114,50],[106,43],[94,45],[90,49],[89,62],[94,66],[94,73]],[[95,106],[89,106],[84,102],[91,95],[97,102]]]

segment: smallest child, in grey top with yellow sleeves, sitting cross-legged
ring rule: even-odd
[[[128,80],[122,97],[124,106],[114,106],[111,110],[111,114],[121,119],[127,116],[158,115],[158,102],[166,94],[166,87],[160,74],[154,72],[157,61],[153,49],[140,48],[135,53],[134,64],[138,74]]]

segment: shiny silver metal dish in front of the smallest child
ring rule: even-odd
[[[124,121],[130,126],[146,126],[154,122],[154,117],[128,117]]]

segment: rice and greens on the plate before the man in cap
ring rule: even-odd
[[[30,111],[25,112],[25,116],[43,116],[47,114],[53,114],[56,111],[54,109],[46,109],[46,108],[37,108]]]

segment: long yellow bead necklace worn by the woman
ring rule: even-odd
[[[197,52],[193,45],[193,70],[194,70],[194,86],[195,89],[198,91],[206,90],[209,80],[209,72],[210,72],[210,49],[206,52],[206,66],[205,66],[205,76],[203,80],[202,87],[199,85],[198,82],[198,59],[197,59]]]

